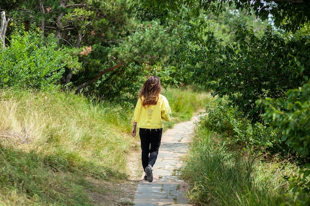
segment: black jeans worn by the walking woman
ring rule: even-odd
[[[145,169],[148,165],[154,165],[160,146],[162,128],[160,129],[139,129],[142,149],[142,166]]]

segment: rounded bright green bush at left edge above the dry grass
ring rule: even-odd
[[[0,50],[0,87],[46,90],[57,87],[64,71],[61,50],[52,36],[36,31],[15,32]]]

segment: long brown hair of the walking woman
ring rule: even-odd
[[[155,105],[158,101],[158,96],[161,93],[160,79],[156,76],[151,76],[144,82],[142,89],[139,93],[139,98],[144,107]]]

